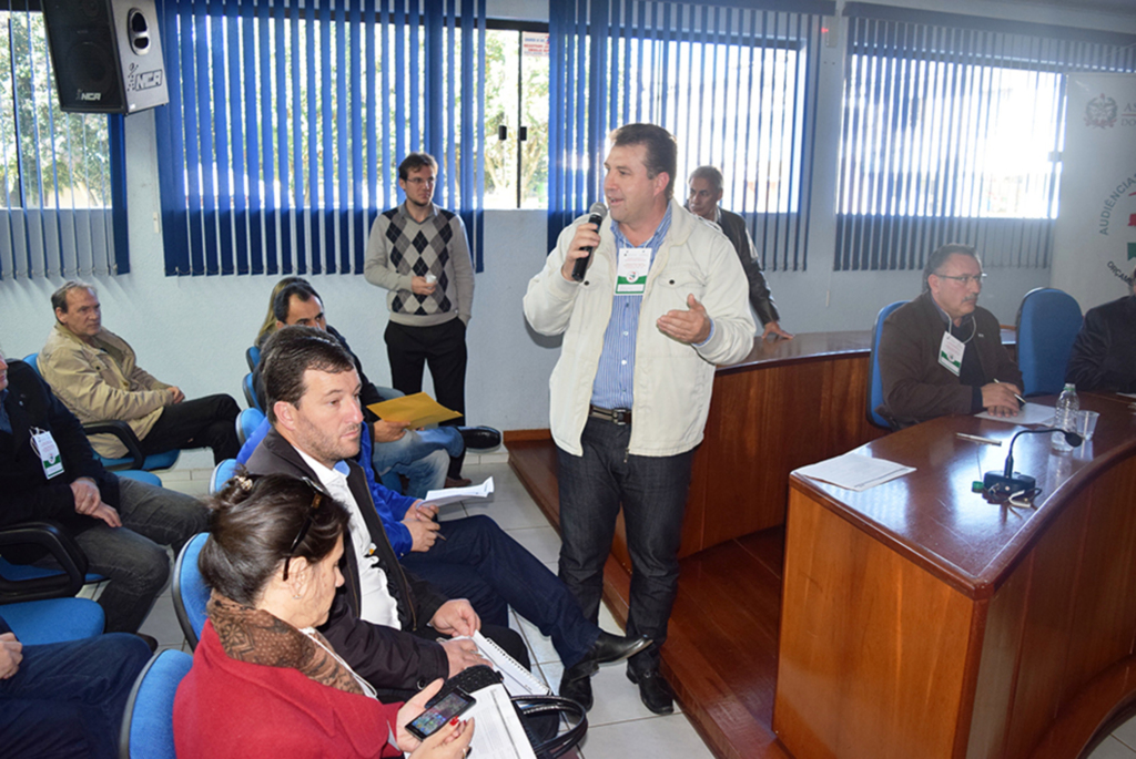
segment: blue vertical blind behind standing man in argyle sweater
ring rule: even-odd
[[[167,276],[360,273],[411,151],[482,268],[485,0],[159,0]]]

